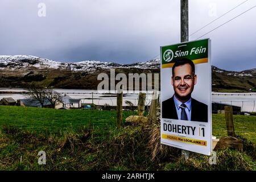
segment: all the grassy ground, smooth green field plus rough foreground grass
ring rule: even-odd
[[[133,112],[124,112],[123,119]],[[0,106],[0,170],[256,170],[255,116],[234,115],[244,150],[218,150],[217,164],[160,145],[159,125],[115,127],[115,111]],[[51,131],[51,132],[49,132]],[[47,135],[46,135],[46,133]],[[224,114],[213,135],[226,136]],[[38,164],[46,151],[47,164]]]

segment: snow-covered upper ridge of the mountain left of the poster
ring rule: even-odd
[[[53,61],[43,59],[36,56],[15,55],[15,56],[0,56],[0,69],[65,69],[69,71],[94,71],[98,68],[112,69],[112,68],[140,68],[140,69],[157,69],[160,68],[160,60],[155,59],[151,61],[134,63],[134,64],[118,64],[108,63],[102,61],[86,60],[77,63],[63,63],[60,61]]]

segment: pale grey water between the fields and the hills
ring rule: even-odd
[[[116,105],[115,94],[102,94],[98,93],[97,90],[83,90],[83,89],[55,89],[62,95],[67,94],[71,98],[81,99],[83,103],[91,104],[92,102],[96,105],[109,104],[111,106]],[[10,89],[0,88],[0,92],[24,92],[24,89]],[[125,93],[123,94],[123,105],[125,101],[130,101],[134,105],[138,105],[138,93]],[[3,97],[13,97],[14,100],[26,98],[24,94],[0,94],[0,100]],[[152,99],[152,92],[146,95],[146,105],[150,105]],[[218,102],[221,104],[228,104],[234,106],[240,106],[242,111],[256,111],[256,93],[212,93],[212,102]]]

